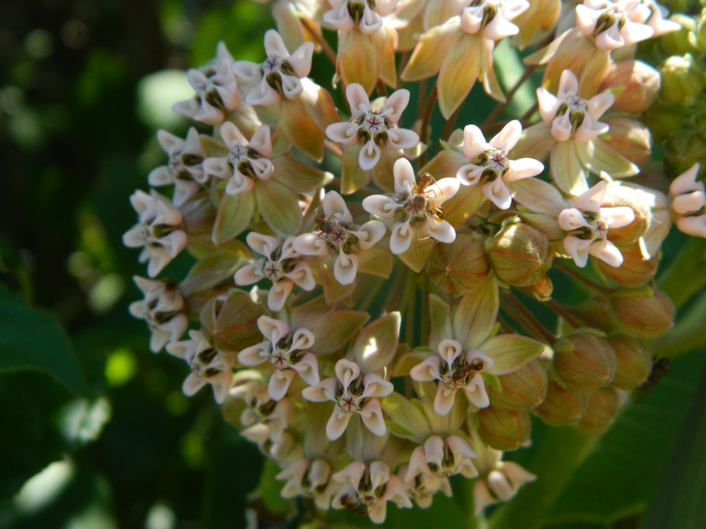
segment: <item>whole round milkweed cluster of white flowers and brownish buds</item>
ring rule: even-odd
[[[131,197],[149,279],[130,312],[282,497],[383,523],[460,475],[481,516],[542,479],[503,461],[532,420],[606,430],[674,322],[652,279],[672,223],[706,237],[702,150],[648,162],[653,135],[682,145],[664,108],[687,99],[635,43],[679,25],[652,0],[315,4],[277,0],[261,62],[220,43],[186,73],[174,111],[198,123],[157,133],[159,191]],[[510,54],[531,65],[514,87]],[[174,260],[191,268],[167,280]],[[592,293],[567,305],[550,274]]]

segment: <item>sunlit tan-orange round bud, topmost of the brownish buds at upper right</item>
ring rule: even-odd
[[[659,86],[659,72],[652,66],[642,61],[619,61],[611,66],[598,91],[616,92],[611,109],[640,114],[657,99]]]

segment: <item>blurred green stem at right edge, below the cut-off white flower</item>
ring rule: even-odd
[[[706,239],[690,237],[657,281],[660,290],[681,307],[694,293],[706,285]]]

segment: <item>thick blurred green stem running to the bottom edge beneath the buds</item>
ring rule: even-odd
[[[541,528],[597,439],[580,434],[571,427],[548,430],[527,465],[527,470],[537,475],[537,481],[522,487],[516,497],[495,511],[490,518],[489,529]]]

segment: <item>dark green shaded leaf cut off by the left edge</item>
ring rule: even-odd
[[[37,370],[66,389],[88,394],[83,370],[68,336],[47,311],[12,299],[0,300],[0,374]]]

